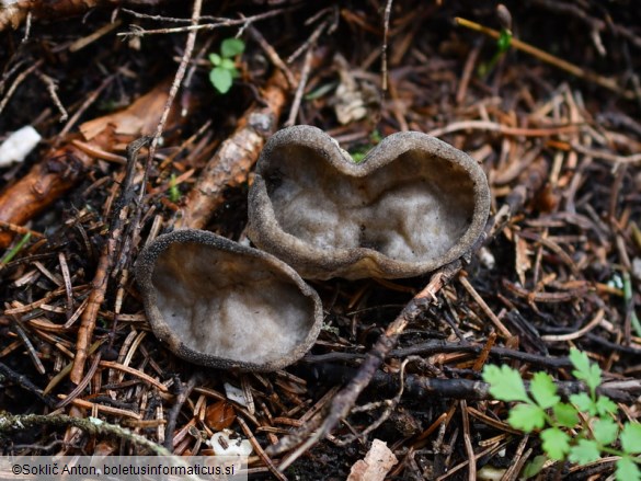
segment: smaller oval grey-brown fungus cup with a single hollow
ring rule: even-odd
[[[288,265],[215,233],[160,236],[136,264],[156,335],[194,364],[276,370],[313,345],[318,295]]]

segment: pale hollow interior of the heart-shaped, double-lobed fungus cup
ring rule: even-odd
[[[341,175],[302,146],[274,152],[272,163],[267,192],[278,224],[323,250],[366,248],[404,262],[438,257],[465,233],[474,210],[465,171],[421,151],[365,177]]]

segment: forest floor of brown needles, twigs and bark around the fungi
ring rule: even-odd
[[[4,454],[208,455],[228,427],[251,439],[252,479],[346,479],[374,439],[398,460],[388,479],[518,479],[541,437],[508,425],[483,367],[547,371],[566,399],[586,390],[573,347],[600,366],[609,419],[639,422],[633,1],[22,3],[0,7],[0,142],[28,125],[42,140],[0,167]],[[198,368],[152,334],[137,254],[179,225],[247,239],[253,164],[294,124],[355,158],[401,130],[469,153],[491,188],[484,242],[431,275],[310,282],[323,329],[284,370]],[[538,477],[606,479],[617,459]]]

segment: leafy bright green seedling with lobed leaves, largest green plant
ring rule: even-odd
[[[616,477],[620,481],[641,480],[641,424],[616,422],[617,404],[596,393],[602,370],[579,350],[570,351],[573,376],[587,386],[588,392],[572,394],[562,402],[557,385],[547,373],[536,373],[529,392],[520,374],[508,366],[488,365],[483,380],[490,385],[494,399],[515,402],[507,423],[526,433],[538,433],[548,459],[569,460],[577,465],[597,461],[604,455],[619,456]],[[545,458],[535,458],[524,476],[536,476]]]

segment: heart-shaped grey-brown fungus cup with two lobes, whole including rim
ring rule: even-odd
[[[302,277],[400,278],[445,265],[479,238],[483,170],[417,131],[393,134],[356,163],[311,126],[270,138],[249,194],[249,236]]]

